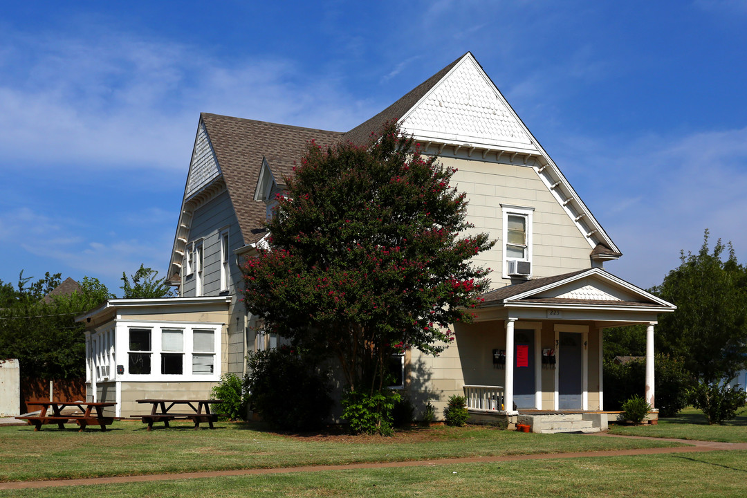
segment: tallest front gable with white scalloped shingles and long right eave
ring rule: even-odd
[[[622,255],[470,52],[347,132],[344,139],[362,143],[383,122],[393,120],[414,135],[427,154],[481,156],[483,161],[534,169],[589,243],[592,260],[601,265]]]

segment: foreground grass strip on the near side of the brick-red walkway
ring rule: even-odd
[[[734,451],[184,479],[0,491],[0,497],[742,498],[746,477],[747,452]]]

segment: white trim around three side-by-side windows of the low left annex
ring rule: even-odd
[[[118,355],[121,361],[129,361],[129,331],[130,329],[150,329],[151,331],[151,343],[150,343],[150,373],[149,374],[131,374],[128,370],[128,364],[125,364],[125,372],[117,376],[117,381],[122,382],[219,382],[222,374],[222,365],[220,358],[222,358],[221,351],[221,334],[223,332],[223,324],[221,323],[184,323],[184,322],[146,322],[140,320],[128,320],[117,323],[117,335],[116,349],[125,352],[124,355]],[[161,331],[163,330],[182,330],[184,335],[182,336],[182,354],[183,364],[182,373],[175,374],[162,374],[161,373],[161,353],[162,350],[162,337]],[[214,333],[214,352],[200,352],[194,351],[193,343],[193,331],[194,330],[212,330]],[[194,374],[192,373],[192,354],[212,354],[214,355],[213,373],[205,374]],[[121,363],[120,361],[120,363]]]

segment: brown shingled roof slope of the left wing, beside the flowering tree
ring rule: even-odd
[[[286,172],[292,168],[294,161],[303,157],[311,140],[316,140],[320,145],[329,145],[343,135],[338,131],[210,113],[202,113],[200,119],[205,123],[246,244],[261,238],[261,234],[253,234],[252,231],[265,218],[264,203],[254,200],[262,158],[267,158],[271,167],[277,165],[280,172]]]

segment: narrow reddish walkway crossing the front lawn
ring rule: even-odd
[[[418,461],[389,461],[367,464],[345,464],[345,465],[311,465],[307,467],[284,467],[278,469],[245,469],[245,470],[219,470],[213,472],[187,472],[176,474],[149,474],[146,476],[118,476],[118,477],[96,477],[91,479],[58,479],[50,481],[19,481],[0,482],[0,490],[29,489],[29,488],[57,488],[60,486],[84,486],[84,485],[106,485],[123,484],[127,482],[152,482],[152,481],[175,481],[178,479],[200,479],[204,477],[223,476],[256,476],[261,474],[285,474],[296,472],[323,472],[325,470],[357,470],[389,467],[419,467],[436,466],[447,464],[474,464],[494,461],[521,461],[521,460],[551,460],[554,458],[581,458],[599,456],[628,456],[628,455],[660,455],[666,453],[692,453],[719,451],[725,449],[747,449],[747,443],[715,443],[713,441],[689,441],[685,439],[646,438],[642,436],[620,436],[611,434],[595,434],[589,437],[597,438],[634,438],[651,439],[654,441],[672,441],[684,443],[688,446],[676,446],[672,448],[640,448],[640,449],[613,449],[609,451],[593,452],[570,452],[570,453],[544,453],[538,455],[508,455],[489,456],[478,458],[443,458],[436,460]]]

